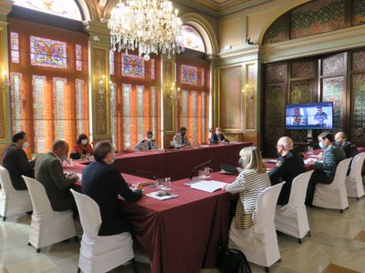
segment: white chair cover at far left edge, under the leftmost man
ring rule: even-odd
[[[2,166],[0,166],[0,184],[0,216],[3,217],[3,220],[5,217],[32,211],[28,190],[16,190],[11,183],[7,169]]]

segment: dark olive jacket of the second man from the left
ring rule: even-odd
[[[65,211],[74,206],[75,199],[69,188],[76,179],[65,177],[61,161],[56,155],[48,152],[36,160],[36,180],[46,188],[53,210]]]

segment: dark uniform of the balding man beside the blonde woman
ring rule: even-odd
[[[289,201],[291,184],[293,179],[306,171],[303,158],[293,150],[288,151],[283,157],[279,157],[274,167],[268,174],[271,185],[276,185],[283,181],[286,183],[281,188],[280,195],[277,199],[277,205],[286,205]]]

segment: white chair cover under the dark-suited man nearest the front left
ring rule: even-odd
[[[129,232],[98,236],[101,217],[98,204],[90,197],[71,189],[78,205],[82,235],[78,268],[83,272],[107,272],[134,258]]]

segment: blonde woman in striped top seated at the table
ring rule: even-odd
[[[243,148],[240,151],[240,157],[243,160],[243,171],[234,183],[223,187],[224,190],[232,194],[239,193],[230,234],[232,232],[239,233],[240,230],[255,225],[255,208],[258,196],[266,187],[271,186],[260,151],[256,147]]]

